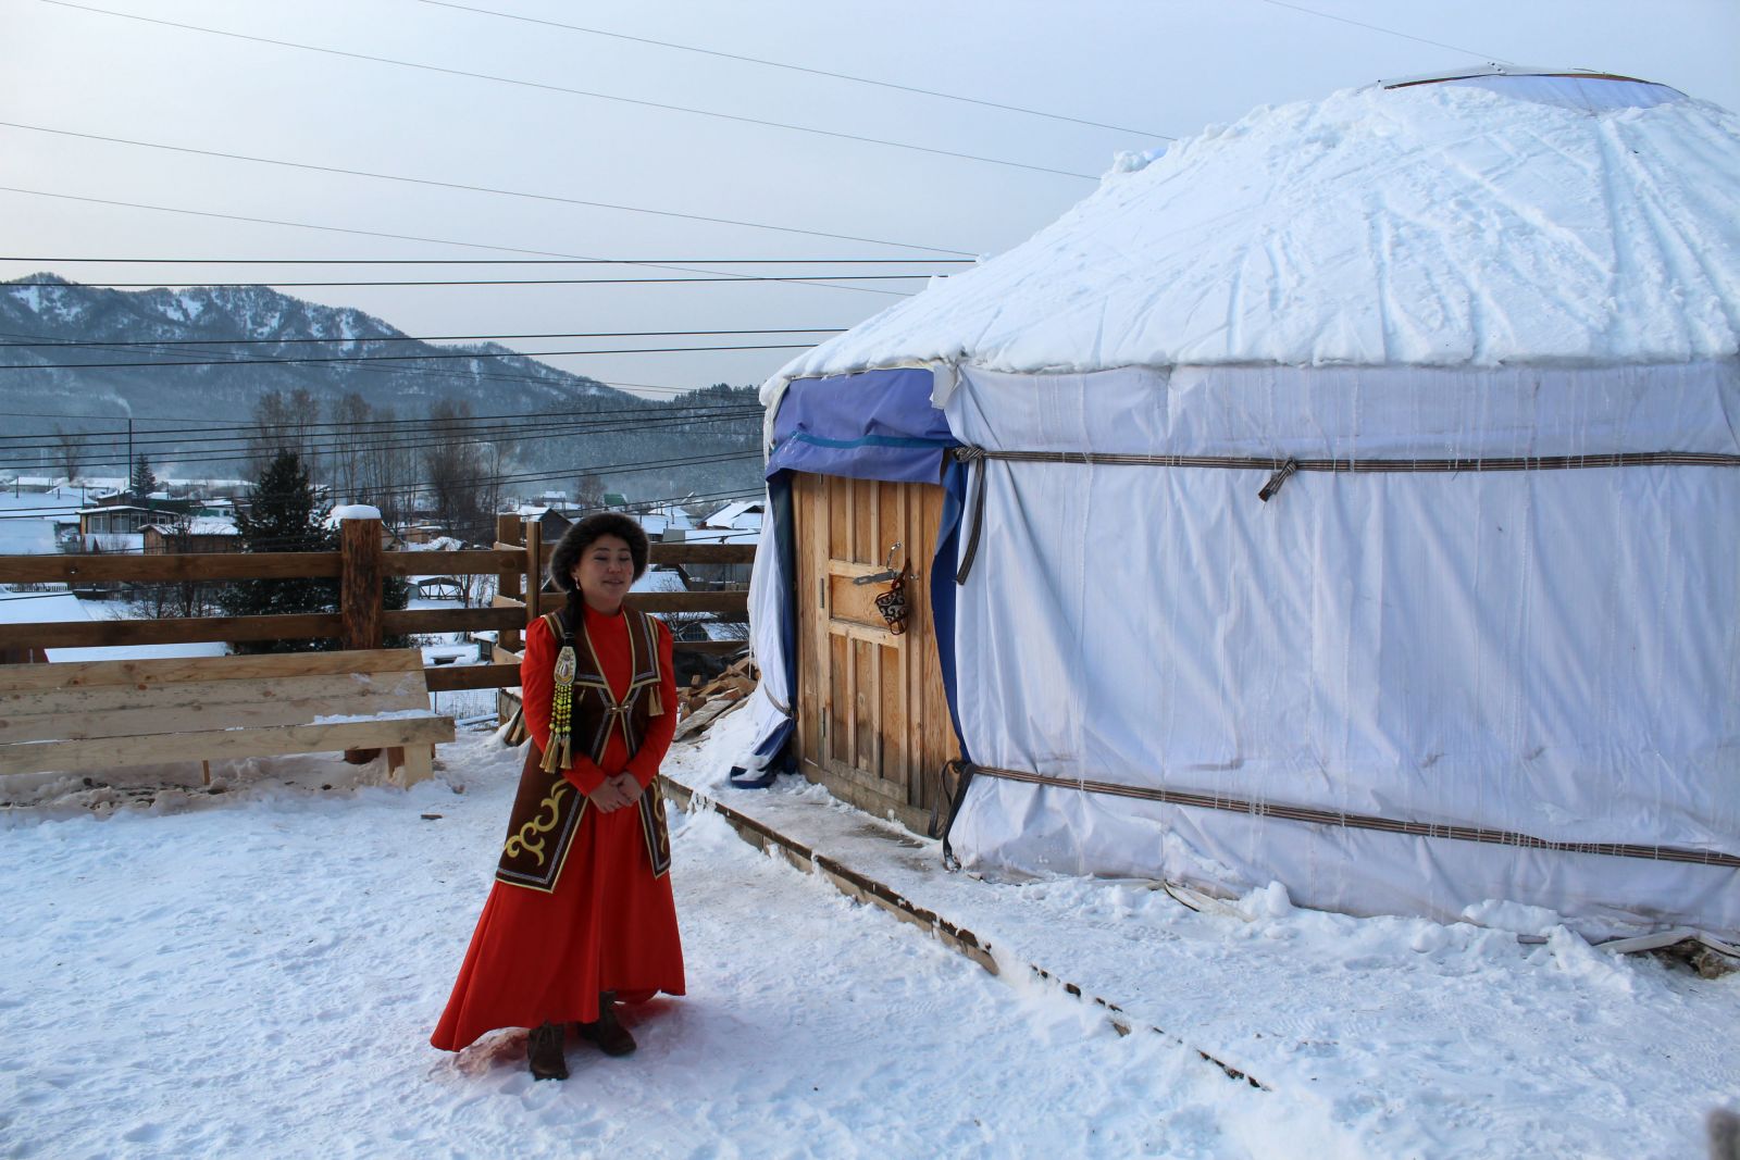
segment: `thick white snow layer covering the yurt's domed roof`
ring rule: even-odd
[[[1469,70],[1260,108],[788,363],[1613,363],[1740,348],[1740,118]]]

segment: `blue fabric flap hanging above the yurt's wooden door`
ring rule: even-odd
[[[797,379],[774,416],[767,478],[781,471],[936,483],[941,452],[959,445],[931,405],[931,372],[865,370]]]

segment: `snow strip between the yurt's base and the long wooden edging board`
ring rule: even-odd
[[[1037,965],[1117,1003],[1314,1106],[1364,1155],[1695,1157],[1703,1113],[1740,1104],[1740,976],[1613,957],[1547,911],[1354,918],[1270,887],[1195,913],[1147,882],[980,882],[816,786],[743,791],[686,765],[673,776],[720,805],[971,930],[1006,976]],[[1547,937],[1491,929],[1505,920]]]

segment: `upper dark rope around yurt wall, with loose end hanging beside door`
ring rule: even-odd
[[[955,461],[978,464],[974,475],[973,525],[960,553],[955,583],[966,584],[978,555],[980,527],[985,522],[985,461],[1006,463],[1079,463],[1114,468],[1221,468],[1234,471],[1270,471],[1256,497],[1268,503],[1296,471],[1331,471],[1338,475],[1402,475],[1462,471],[1576,471],[1583,468],[1740,468],[1740,456],[1698,450],[1627,450],[1596,456],[1496,456],[1472,459],[1263,459],[1260,456],[1134,456],[1093,450],[987,450],[985,447],[955,447]]]

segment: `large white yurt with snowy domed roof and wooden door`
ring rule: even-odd
[[[1663,85],[1119,158],[766,386],[757,760],[919,826],[960,758],[987,873],[1731,937],[1737,351],[1740,118]]]

